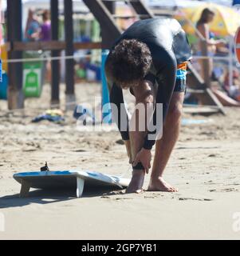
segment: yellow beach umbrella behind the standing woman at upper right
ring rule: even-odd
[[[189,34],[195,34],[195,29],[191,26],[189,19],[194,25],[198,22],[203,9],[210,8],[215,13],[214,21],[210,23],[210,31],[218,36],[225,37],[234,35],[240,26],[240,14],[227,6],[220,6],[214,3],[204,3],[201,6],[179,9],[175,18],[182,23],[183,29]]]

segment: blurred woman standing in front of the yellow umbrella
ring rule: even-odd
[[[197,29],[199,32],[203,35],[203,38],[206,39],[207,42],[207,51],[208,51],[208,56],[213,57],[214,54],[216,53],[217,48],[222,48],[226,46],[226,43],[224,40],[214,40],[212,37],[212,34],[210,33],[209,29],[209,24],[210,22],[213,22],[214,20],[214,11],[210,10],[209,8],[205,8],[201,14],[201,17],[199,18],[199,21],[197,22]],[[199,42],[199,55],[203,55],[202,53],[202,45],[201,42]],[[203,66],[203,61],[200,60],[200,65]],[[210,77],[212,76],[212,71],[213,71],[213,59],[209,59],[209,75]],[[202,68],[203,72],[203,68]]]

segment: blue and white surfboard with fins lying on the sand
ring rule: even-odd
[[[30,188],[40,190],[77,189],[77,198],[81,198],[84,189],[90,187],[123,189],[130,180],[109,174],[89,170],[34,171],[14,174],[14,179],[21,184],[20,197],[26,198]]]

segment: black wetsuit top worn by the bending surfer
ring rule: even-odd
[[[137,39],[148,45],[153,65],[146,79],[153,84],[158,84],[155,102],[163,104],[164,120],[173,91],[185,90],[186,82],[182,79],[176,80],[177,65],[191,59],[191,48],[187,42],[185,32],[179,22],[173,18],[150,18],[135,22],[120,36],[112,48],[123,39]],[[108,59],[106,63],[108,63]],[[118,108],[118,111],[112,111],[112,118],[118,120],[119,129],[120,127],[127,127],[125,130],[120,129],[120,133],[124,140],[128,140],[128,120],[125,120],[126,124],[120,123],[120,104],[124,103],[122,89],[108,78],[108,74],[106,76],[108,86],[112,88],[110,102],[116,104]],[[126,115],[127,111],[125,109],[124,111]],[[153,120],[155,120],[155,113],[153,114]],[[154,132],[148,131],[149,133],[154,134]],[[147,135],[144,140],[144,148],[151,150],[154,144],[155,139],[149,140]]]

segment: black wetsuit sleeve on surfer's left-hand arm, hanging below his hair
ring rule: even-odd
[[[109,86],[108,86],[109,87]],[[124,104],[123,90],[112,84],[110,88],[110,102],[112,106],[112,119],[116,122],[120,134],[124,141],[129,140],[129,122],[128,122],[128,112]]]

